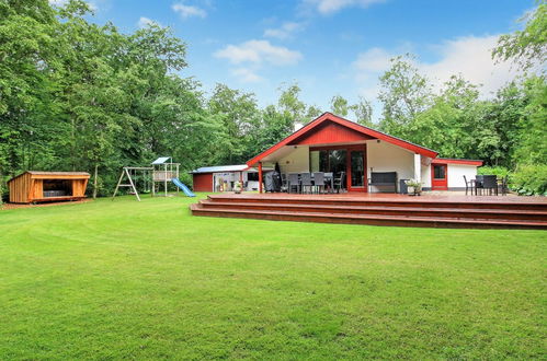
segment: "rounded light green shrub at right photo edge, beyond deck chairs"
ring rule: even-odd
[[[512,175],[511,188],[522,196],[547,196],[547,165],[521,165]]]

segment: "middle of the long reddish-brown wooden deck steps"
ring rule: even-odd
[[[495,220],[547,220],[547,211],[543,210],[511,210],[506,209],[472,209],[472,208],[414,208],[400,206],[353,206],[353,205],[316,205],[308,203],[269,203],[263,201],[226,201],[206,199],[200,202],[203,208],[270,210],[293,212],[323,212],[352,214],[385,214],[385,216],[415,216],[441,217],[459,219],[495,219]]]

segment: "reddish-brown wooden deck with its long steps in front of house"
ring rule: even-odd
[[[544,197],[219,194],[194,216],[431,228],[547,229]]]

